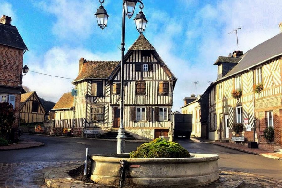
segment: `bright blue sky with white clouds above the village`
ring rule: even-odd
[[[178,78],[173,111],[181,111],[183,99],[201,94],[217,79],[218,56],[237,50],[243,53],[279,34],[281,0],[143,0],[148,20],[144,36]],[[76,78],[78,61],[121,58],[122,1],[105,0],[109,14],[104,30],[94,13],[98,0],[0,0],[0,14],[12,17],[11,24],[29,51],[24,65],[49,75]],[[136,6],[136,13],[139,7]],[[135,15],[133,17],[135,17]],[[126,19],[125,48],[138,38],[134,20]],[[70,79],[28,72],[23,85],[39,97],[57,102],[70,92]],[[198,81],[196,85],[193,82]]]

